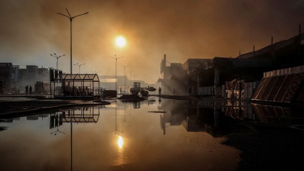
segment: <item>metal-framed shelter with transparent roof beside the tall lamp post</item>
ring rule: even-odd
[[[54,98],[100,98],[97,74],[58,74],[54,78]]]

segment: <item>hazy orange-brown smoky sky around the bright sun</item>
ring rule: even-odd
[[[298,34],[304,25],[304,0],[0,0],[0,62],[56,67],[50,53],[66,54],[59,69],[70,73],[70,21],[73,63],[81,72],[115,75],[115,60],[131,65],[132,79],[154,83],[160,61],[232,56]],[[302,26],[304,30],[304,26]],[[124,36],[127,46],[114,44]],[[78,67],[73,66],[73,72]]]

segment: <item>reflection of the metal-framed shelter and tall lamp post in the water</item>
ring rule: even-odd
[[[100,116],[100,109],[102,108],[105,108],[105,106],[86,106],[62,110],[51,114],[50,129],[57,128],[54,135],[56,135],[57,132],[61,132],[58,130],[58,127],[63,125],[64,122],[71,123],[71,171],[73,170],[73,123],[97,123]]]

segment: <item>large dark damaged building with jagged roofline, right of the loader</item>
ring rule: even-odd
[[[236,58],[188,59],[184,64],[166,66],[161,62],[164,94],[174,85],[180,94],[250,99],[257,89],[263,73],[304,65],[304,33],[279,41]],[[272,38],[273,40],[273,38]],[[169,87],[169,88],[168,88]]]

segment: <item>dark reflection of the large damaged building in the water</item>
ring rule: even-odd
[[[301,111],[300,109],[251,104],[246,101],[166,100],[161,101],[158,110],[166,112],[160,114],[160,127],[164,135],[166,129],[174,125],[182,125],[188,132],[204,131],[218,137],[246,131],[248,128],[236,124],[244,121],[304,123],[303,115],[295,117],[291,112]]]

